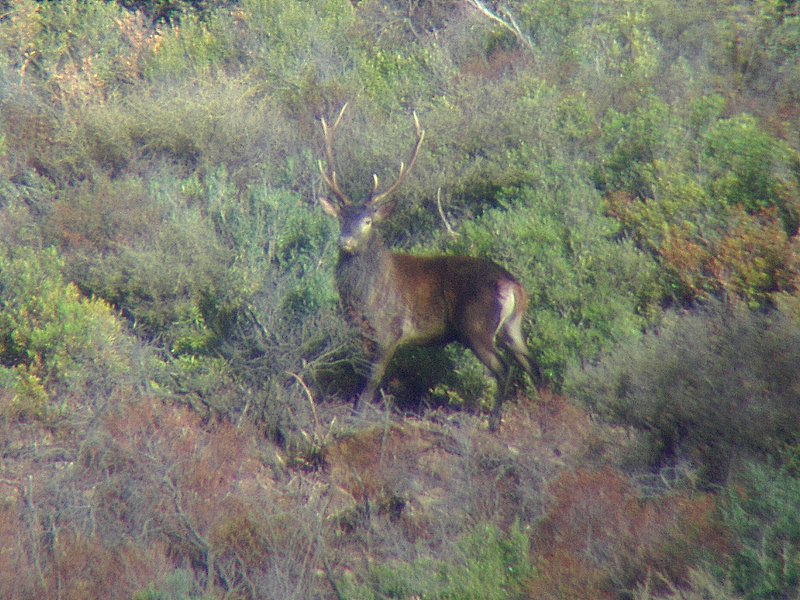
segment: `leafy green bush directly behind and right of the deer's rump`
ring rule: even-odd
[[[507,209],[464,223],[447,249],[491,257],[525,284],[529,345],[558,387],[571,362],[639,335],[657,300],[653,263],[615,239],[616,224],[580,184],[563,195],[524,188],[504,198]]]

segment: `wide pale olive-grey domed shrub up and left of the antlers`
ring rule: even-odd
[[[298,141],[256,93],[242,77],[167,78],[135,88],[124,100],[88,107],[65,144],[114,175],[157,177],[166,163],[182,177],[224,165],[242,185],[265,172],[277,179],[287,157],[299,153]]]

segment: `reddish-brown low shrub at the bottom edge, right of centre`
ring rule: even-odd
[[[565,472],[548,492],[550,508],[534,536],[540,575],[531,597],[613,597],[648,572],[679,582],[700,553],[724,547],[707,495],[641,500],[609,467]]]

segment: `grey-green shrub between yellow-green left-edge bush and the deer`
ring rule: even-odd
[[[230,251],[179,185],[151,182],[140,199],[149,222],[113,252],[78,254],[72,272],[82,288],[122,310],[140,336],[174,353],[207,351],[224,334],[214,327],[224,327],[241,288],[228,271]]]

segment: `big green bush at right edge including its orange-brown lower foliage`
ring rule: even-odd
[[[709,123],[718,105],[715,96],[698,101],[683,132],[667,125],[658,100],[660,118],[612,113],[610,158],[595,177],[610,192],[609,213],[665,268],[668,294],[763,307],[794,288],[798,156],[752,117]],[[688,148],[676,147],[681,134]]]

